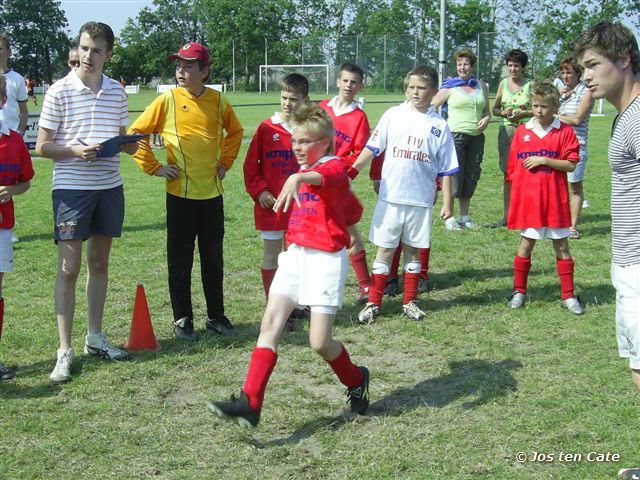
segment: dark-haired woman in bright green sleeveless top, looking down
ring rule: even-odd
[[[504,175],[503,201],[504,216],[501,220],[492,224],[494,227],[506,225],[509,213],[509,200],[511,198],[511,184],[507,183],[507,163],[509,161],[509,148],[516,128],[525,123],[533,115],[531,111],[531,82],[524,77],[524,68],[529,57],[522,50],[511,50],[505,56],[509,76],[498,85],[496,99],[493,103],[493,114],[502,117],[502,125],[498,130],[498,155],[500,157],[500,170]]]

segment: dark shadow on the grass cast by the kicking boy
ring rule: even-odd
[[[516,392],[518,382],[512,371],[522,368],[522,363],[511,359],[499,362],[468,359],[451,361],[449,368],[447,374],[424,380],[412,387],[398,388],[371,403],[366,417],[395,417],[421,407],[443,408],[467,397],[471,398],[461,406],[471,410]],[[371,378],[375,395],[375,371]],[[250,442],[259,448],[296,444],[319,430],[337,430],[351,420],[352,417],[343,415],[317,418],[305,423],[288,437],[268,441],[252,437]]]

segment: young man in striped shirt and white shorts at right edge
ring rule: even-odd
[[[584,32],[575,50],[593,98],[606,98],[618,111],[609,143],[611,280],[618,350],[640,390],[640,50],[628,28],[610,22]]]

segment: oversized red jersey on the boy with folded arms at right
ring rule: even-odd
[[[507,181],[511,182],[507,218],[510,229],[571,226],[566,172],[546,166],[527,170],[523,162],[528,157],[541,156],[577,163],[579,152],[573,128],[557,118],[547,129],[533,118],[516,129],[507,166]]]

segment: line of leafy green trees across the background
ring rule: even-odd
[[[637,0],[448,0],[447,71],[455,73],[452,50],[480,47],[481,76],[499,76],[502,55],[518,47],[529,54],[533,76],[548,77],[590,25],[631,19],[637,28],[639,14]],[[46,83],[66,74],[77,32],[69,32],[60,1],[0,0],[0,30],[12,38],[17,71]],[[213,81],[229,83],[235,75],[252,90],[265,50],[270,64],[337,64],[356,61],[358,39],[384,37],[366,43],[357,60],[373,77],[384,56],[396,75],[406,72],[400,58],[435,66],[439,30],[440,0],[154,0],[127,20],[105,73],[128,83],[169,79],[166,56],[198,41],[210,49]]]

